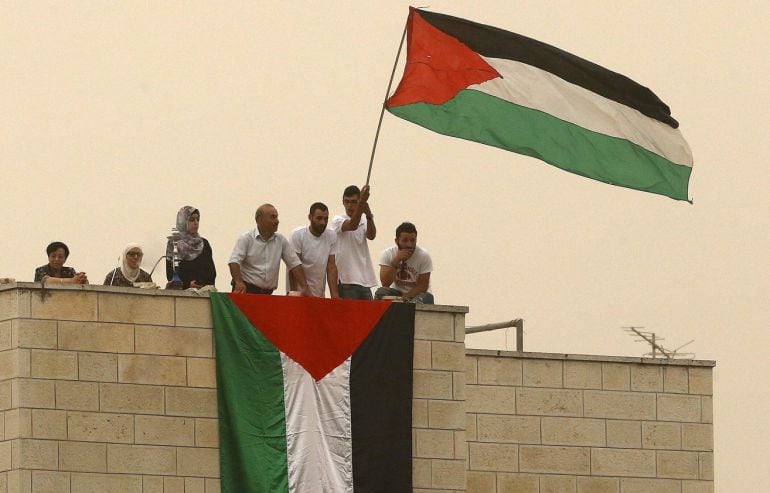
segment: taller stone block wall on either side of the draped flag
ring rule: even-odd
[[[414,491],[465,491],[464,307],[418,307]],[[0,286],[0,493],[214,493],[207,297]]]

